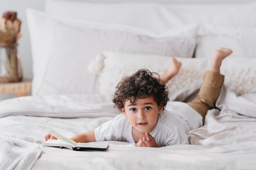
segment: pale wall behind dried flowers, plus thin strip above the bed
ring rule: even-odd
[[[254,2],[255,0],[87,0],[90,2],[171,2],[171,3],[234,3],[234,2]],[[29,33],[27,29],[26,8],[34,8],[44,11],[45,0],[0,0],[0,15],[5,11],[17,11],[18,18],[22,20],[18,53],[21,56],[24,77],[32,78],[32,59],[30,51]],[[15,95],[0,94],[0,100],[12,98]]]

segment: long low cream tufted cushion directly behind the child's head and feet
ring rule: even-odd
[[[181,58],[180,72],[166,85],[169,92],[202,80],[208,70],[210,59]],[[168,66],[170,57],[157,55],[140,55],[117,52],[104,52],[97,56],[90,65],[90,71],[99,76],[97,88],[99,93],[112,97],[115,87],[125,75],[131,75],[141,68],[161,74]],[[225,75],[225,84],[237,95],[256,93],[256,59],[240,59],[228,57],[222,62],[221,73]]]

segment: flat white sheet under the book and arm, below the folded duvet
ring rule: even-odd
[[[61,119],[33,116],[8,116],[0,119],[1,135],[8,135],[38,145],[48,129],[71,137],[92,130],[112,117]],[[255,121],[255,118],[254,118]],[[222,122],[223,123],[223,122]],[[57,128],[56,128],[57,127]],[[226,134],[229,134],[228,130]],[[254,132],[254,136],[255,136]],[[226,135],[228,136],[228,135]],[[218,139],[216,139],[218,141]],[[42,148],[32,170],[101,170],[101,169],[254,169],[256,167],[256,142],[233,144],[175,145],[163,148],[140,148],[126,142],[108,142],[107,151],[78,152],[69,149]]]

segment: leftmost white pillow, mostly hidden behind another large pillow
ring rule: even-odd
[[[54,17],[34,9],[27,9],[26,14],[33,61],[32,95],[36,95],[42,84],[49,57],[52,55],[55,25],[65,23],[83,26],[90,23]]]

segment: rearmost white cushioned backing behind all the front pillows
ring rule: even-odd
[[[67,18],[135,26],[161,33],[172,27],[210,22],[256,26],[256,3],[172,4],[47,0],[47,13]]]

